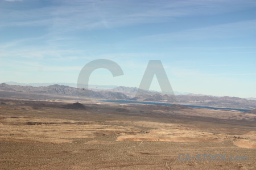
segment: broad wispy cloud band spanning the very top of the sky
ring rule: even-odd
[[[231,2],[231,3],[230,3]],[[227,12],[254,1],[61,1],[59,6],[28,10],[3,9],[1,27],[46,25],[54,32],[111,29],[124,25],[159,23],[191,15]]]

